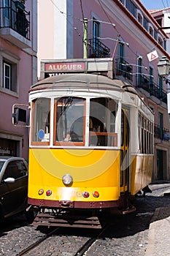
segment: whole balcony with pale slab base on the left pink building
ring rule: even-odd
[[[10,1],[10,7],[0,7],[0,37],[20,48],[30,48],[30,12],[21,1]]]

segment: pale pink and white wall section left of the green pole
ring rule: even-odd
[[[73,0],[38,2],[38,76],[41,59],[73,58]]]

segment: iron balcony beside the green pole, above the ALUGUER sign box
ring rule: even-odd
[[[88,58],[109,58],[110,49],[104,45],[99,39],[88,39],[88,47],[90,48]]]

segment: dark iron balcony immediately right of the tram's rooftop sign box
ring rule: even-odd
[[[133,80],[133,67],[124,59],[116,59],[116,75],[123,75],[128,80]]]

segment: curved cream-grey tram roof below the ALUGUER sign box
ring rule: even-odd
[[[53,75],[50,78],[45,78],[35,83],[34,86],[31,86],[30,91],[62,88],[129,91],[133,94],[138,94],[133,86],[122,80],[112,80],[104,75],[84,73]]]

